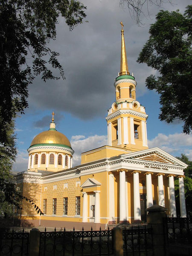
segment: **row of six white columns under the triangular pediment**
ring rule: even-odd
[[[127,221],[126,216],[126,190],[125,190],[125,172],[127,170],[120,169],[119,172],[119,223]],[[141,207],[140,207],[140,186],[139,186],[139,174],[140,171],[134,171],[133,184],[134,184],[134,221],[141,220]],[[147,190],[147,208],[153,206],[153,192],[152,192],[152,179],[151,175],[153,172],[145,172],[146,175],[146,190]],[[165,197],[163,188],[163,176],[165,174],[158,173],[158,204],[165,207]],[[175,186],[174,177],[175,175],[168,175],[169,177],[169,206],[170,215],[176,217],[176,205],[175,205]],[[179,178],[179,194],[180,194],[180,216],[186,217],[186,205],[185,205],[185,193],[183,175],[178,176]]]

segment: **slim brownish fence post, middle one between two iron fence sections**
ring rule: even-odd
[[[123,256],[123,237],[120,227],[113,228],[113,248],[114,256]]]

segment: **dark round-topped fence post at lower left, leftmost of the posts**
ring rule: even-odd
[[[38,228],[32,228],[29,235],[29,256],[39,256],[41,231]]]

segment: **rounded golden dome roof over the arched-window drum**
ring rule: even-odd
[[[67,139],[67,137],[55,129],[43,131],[35,136],[30,147],[36,144],[62,144],[71,148],[70,141]]]

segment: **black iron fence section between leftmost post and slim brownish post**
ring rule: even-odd
[[[41,232],[39,256],[88,256],[113,254],[111,230]]]

